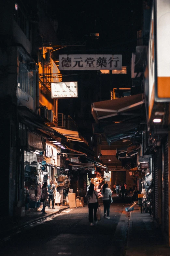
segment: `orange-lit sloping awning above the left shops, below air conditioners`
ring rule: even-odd
[[[88,145],[88,142],[78,133],[78,131],[66,130],[58,127],[50,128],[64,135],[69,141],[84,142]]]

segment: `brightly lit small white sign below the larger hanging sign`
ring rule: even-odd
[[[77,98],[77,82],[51,83],[51,98]]]

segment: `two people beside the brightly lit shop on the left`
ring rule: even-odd
[[[52,209],[55,209],[54,207],[54,196],[55,196],[55,185],[52,184],[52,179],[50,179],[50,184],[48,184],[47,182],[44,182],[43,186],[42,186],[42,194],[41,194],[41,202],[43,202],[43,208],[42,208],[42,213],[43,214],[47,214],[45,212],[45,208],[46,208],[46,204],[45,201],[48,199],[49,203],[50,200],[52,202]],[[49,208],[51,208],[49,206]]]

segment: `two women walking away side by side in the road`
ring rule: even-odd
[[[108,184],[104,184],[101,193],[103,195],[103,206],[104,206],[104,218],[110,219],[110,203],[111,203],[111,196],[112,192],[111,189],[108,188]],[[86,193],[86,197],[88,199],[88,208],[89,208],[89,222],[90,226],[94,226],[93,224],[93,210],[94,210],[94,223],[97,224],[97,208],[100,207],[99,199],[98,199],[98,192],[94,190],[94,184],[91,183],[89,186],[89,190]],[[107,213],[107,216],[106,216]]]

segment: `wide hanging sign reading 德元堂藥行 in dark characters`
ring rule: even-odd
[[[111,54],[62,54],[60,70],[121,70],[121,55]]]

